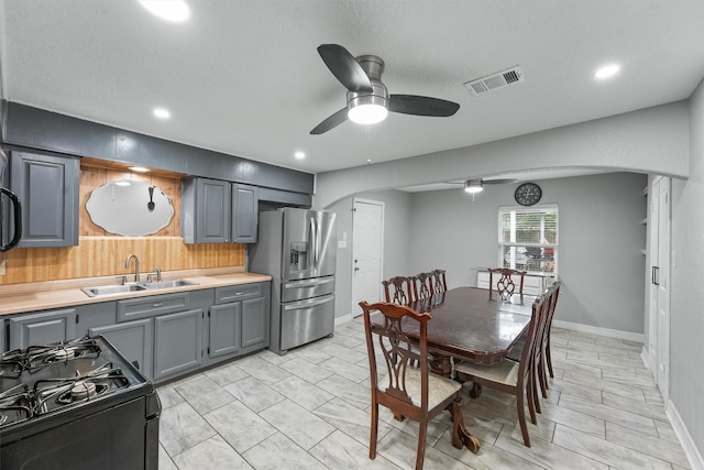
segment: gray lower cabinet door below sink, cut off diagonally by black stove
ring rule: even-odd
[[[152,319],[128,321],[124,324],[108,325],[90,328],[88,335],[92,338],[105,336],[128,361],[138,363],[140,372],[152,379]]]

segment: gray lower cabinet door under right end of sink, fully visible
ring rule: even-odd
[[[154,318],[154,380],[198,368],[201,363],[201,309]]]

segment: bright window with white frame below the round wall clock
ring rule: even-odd
[[[557,205],[498,208],[499,266],[557,276],[558,241]]]

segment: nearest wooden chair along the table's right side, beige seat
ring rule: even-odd
[[[525,401],[528,402],[530,420],[537,424],[536,418],[536,386],[535,386],[535,351],[538,347],[538,332],[541,328],[543,309],[546,307],[546,295],[540,295],[532,304],[530,325],[526,336],[526,347],[522,350],[520,361],[515,362],[504,358],[501,362],[490,365],[475,364],[460,361],[455,364],[455,379],[459,382],[472,381],[474,384],[487,386],[512,394],[516,397],[516,408],[518,412],[518,424],[520,434],[526,447],[530,447],[530,436],[526,424]]]

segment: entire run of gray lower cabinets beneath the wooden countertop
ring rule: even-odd
[[[0,351],[102,335],[160,382],[268,347],[270,294],[262,282],[21,314]]]

